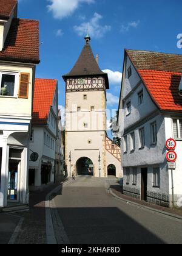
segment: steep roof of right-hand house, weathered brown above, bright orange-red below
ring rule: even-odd
[[[155,104],[161,110],[182,110],[179,85],[182,55],[126,50]]]

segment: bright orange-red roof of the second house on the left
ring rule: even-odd
[[[33,124],[47,124],[57,82],[58,80],[56,79],[35,79],[33,94]]]

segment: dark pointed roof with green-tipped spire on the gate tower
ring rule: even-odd
[[[104,73],[101,71],[101,69],[98,66],[98,63],[95,60],[95,57],[92,52],[92,48],[90,47],[89,42],[87,41],[90,37],[88,34],[88,37],[85,37],[86,44],[84,45],[83,50],[81,51],[81,54],[79,55],[79,58],[77,62],[75,63],[75,66],[73,66],[72,70],[62,76],[64,80],[68,77],[83,77],[83,76],[104,76],[106,79],[106,88],[109,89],[109,80],[107,73]]]

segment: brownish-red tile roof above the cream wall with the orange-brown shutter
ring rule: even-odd
[[[0,60],[39,63],[39,21],[14,18]]]

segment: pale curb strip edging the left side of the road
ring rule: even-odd
[[[52,221],[52,213],[51,213],[51,200],[50,197],[53,193],[56,193],[59,191],[61,186],[70,180],[66,180],[62,182],[58,187],[54,188],[52,191],[50,191],[49,194],[45,197],[45,224],[46,224],[46,236],[47,236],[47,244],[57,244],[55,231],[53,228],[53,221]]]

